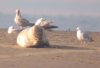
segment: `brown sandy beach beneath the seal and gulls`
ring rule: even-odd
[[[51,48],[21,48],[18,33],[0,29],[0,68],[100,68],[100,33],[81,44],[75,32],[46,32]]]

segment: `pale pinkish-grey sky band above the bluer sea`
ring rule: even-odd
[[[0,12],[100,16],[100,0],[0,0]]]

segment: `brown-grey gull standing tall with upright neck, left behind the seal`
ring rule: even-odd
[[[15,16],[14,21],[21,28],[34,25],[33,23],[30,23],[27,19],[21,16],[20,9],[16,9],[16,16]]]

